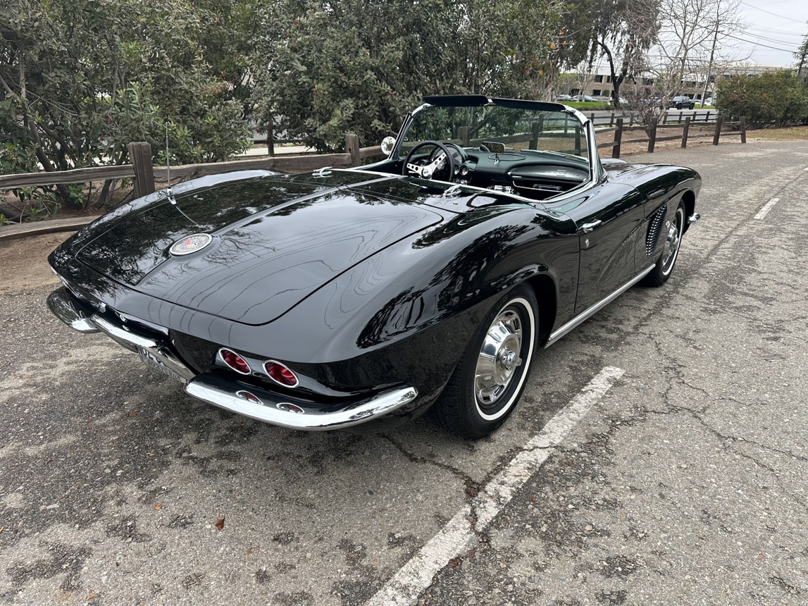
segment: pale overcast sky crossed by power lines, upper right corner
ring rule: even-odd
[[[808,1],[741,0],[739,13],[747,25],[733,36],[743,40],[731,42],[740,58],[759,65],[795,63],[792,53],[808,33]]]

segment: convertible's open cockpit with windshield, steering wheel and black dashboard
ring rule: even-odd
[[[545,200],[593,179],[586,118],[558,103],[427,97],[375,168]]]

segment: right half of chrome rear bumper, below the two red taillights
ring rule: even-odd
[[[236,395],[238,388],[235,384],[234,389],[230,391],[225,383],[219,382],[217,385],[217,382],[209,381],[204,375],[198,375],[185,385],[185,391],[194,398],[238,413],[238,415],[258,419],[279,427],[305,431],[326,431],[367,423],[371,419],[387,415],[408,402],[412,402],[418,395],[415,387],[402,387],[380,393],[372,398],[350,402],[343,410],[320,412],[313,410],[310,406],[304,408],[298,404],[284,402],[284,397],[280,394],[269,393],[257,388],[249,389],[249,391],[259,399],[260,403],[252,402]]]

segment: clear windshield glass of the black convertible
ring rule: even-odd
[[[588,159],[586,133],[576,116],[533,107],[427,107],[407,128],[400,153],[406,154],[419,141],[499,153],[534,149]]]

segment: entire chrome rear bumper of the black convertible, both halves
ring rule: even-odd
[[[418,395],[415,387],[399,387],[368,398],[340,399],[330,404],[289,398],[215,372],[196,374],[179,360],[166,343],[138,334],[137,329],[116,326],[94,314],[67,288],[58,288],[50,294],[48,308],[74,330],[105,333],[116,343],[141,356],[145,364],[185,383],[185,391],[194,398],[271,425],[305,431],[351,427],[388,415],[412,402]]]

